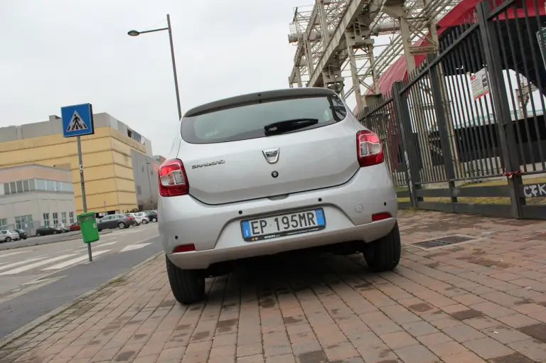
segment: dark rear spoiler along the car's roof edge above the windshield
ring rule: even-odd
[[[243,106],[245,104],[255,104],[263,101],[273,101],[275,99],[299,98],[299,97],[317,97],[317,96],[334,96],[336,92],[321,87],[299,87],[287,88],[286,90],[274,90],[265,92],[255,92],[250,94],[242,94],[241,96],[220,99],[208,104],[202,104],[198,107],[190,109],[184,117],[198,116],[208,112],[219,111],[220,109],[229,109],[232,107]]]

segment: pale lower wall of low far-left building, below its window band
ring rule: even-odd
[[[53,213],[58,213],[58,223],[62,223],[61,213],[65,212],[69,224],[70,212],[75,210],[72,193],[28,192],[0,196],[0,219],[7,219],[8,225],[14,228],[15,217],[32,215],[33,226],[28,226],[27,230],[30,233],[43,225],[43,213],[49,213],[50,224],[53,224]]]

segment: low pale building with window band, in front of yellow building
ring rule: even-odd
[[[34,234],[43,225],[76,220],[70,170],[30,164],[0,168],[0,229]]]

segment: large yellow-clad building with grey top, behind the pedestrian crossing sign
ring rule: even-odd
[[[95,134],[81,138],[87,211],[104,215],[156,204],[158,163],[151,142],[109,114],[93,119]],[[70,170],[75,211],[83,211],[76,138],[63,138],[59,117],[0,128],[0,156],[0,168],[40,164]]]

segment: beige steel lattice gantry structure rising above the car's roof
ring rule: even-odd
[[[315,0],[298,7],[289,85],[328,87],[344,99],[355,94],[358,111],[381,96],[380,75],[397,58],[404,56],[412,72],[414,55],[437,52],[437,21],[460,1]]]

